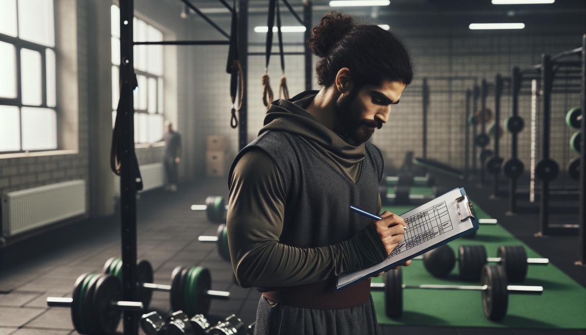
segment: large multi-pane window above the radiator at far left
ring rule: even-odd
[[[55,150],[53,0],[0,3],[0,152]]]

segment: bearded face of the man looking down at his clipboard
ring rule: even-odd
[[[391,105],[398,103],[404,89],[399,81],[384,81],[381,86],[366,85],[340,95],[335,107],[336,131],[355,144],[368,141],[374,129],[387,122]]]

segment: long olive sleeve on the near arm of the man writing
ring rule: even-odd
[[[386,257],[373,225],[350,240],[327,247],[282,244],[287,194],[277,166],[266,153],[245,153],[231,178],[227,230],[232,267],[241,286],[315,283],[377,264]]]

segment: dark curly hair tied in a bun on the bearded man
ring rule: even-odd
[[[350,69],[358,87],[379,86],[384,80],[406,85],[413,81],[413,61],[398,37],[377,25],[357,23],[350,15],[323,16],[307,43],[321,58],[315,71],[322,86],[331,86],[342,67]]]

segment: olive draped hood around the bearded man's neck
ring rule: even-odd
[[[316,94],[318,91],[305,91],[290,100],[273,101],[258,135],[270,130],[297,134],[328,163],[356,182],[364,159],[364,143],[352,145],[346,142],[305,110]]]

